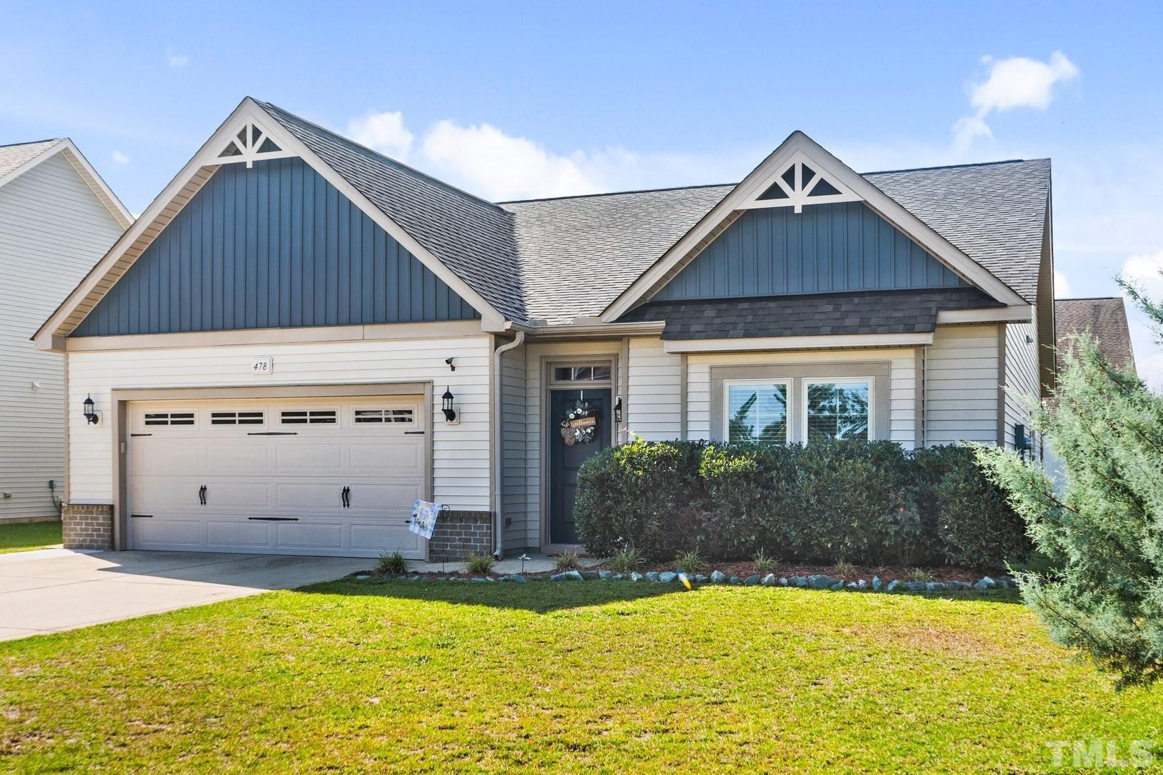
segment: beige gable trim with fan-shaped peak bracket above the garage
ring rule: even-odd
[[[452,291],[468,301],[481,315],[483,330],[504,330],[505,318],[484,297],[480,296],[468,283],[462,280],[448,266],[445,266],[427,248],[392,221],[381,209],[376,207],[366,197],[361,194],[347,179],[338,175],[326,162],[319,158],[311,149],[304,145],[288,131],[272,129],[273,120],[251,98],[245,98],[227,118],[224,122],[211,135],[202,147],[194,154],[193,158],[186,163],[181,171],[170,182],[170,184],[157,195],[145,208],[141,218],[114,243],[113,248],[101,261],[81,279],[80,284],[69,294],[69,298],[56,312],[44,321],[41,328],[33,336],[36,347],[43,350],[64,351],[64,339],[69,336],[81,320],[97,306],[105,293],[121,278],[133,265],[137,257],[150,246],[154,239],[173,220],[173,218],[185,207],[202,185],[223,163],[221,154],[228,144],[238,137],[243,128],[259,127],[265,138],[277,144],[279,150],[272,151],[270,147],[263,150],[263,142],[250,143],[249,155],[251,162],[258,158],[274,158],[273,155],[299,156],[312,169],[321,175],[328,183],[335,186],[341,194],[368,214],[380,228],[387,232],[397,242],[424,264],[434,275],[440,277]],[[240,148],[240,150],[242,150]],[[248,154],[242,154],[245,161]]]

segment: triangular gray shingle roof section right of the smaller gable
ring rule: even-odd
[[[1036,303],[1050,159],[866,172],[864,178]]]

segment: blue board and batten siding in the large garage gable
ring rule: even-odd
[[[475,320],[299,158],[223,164],[73,336]]]

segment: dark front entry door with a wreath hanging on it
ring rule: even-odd
[[[578,533],[573,524],[573,493],[578,486],[578,469],[593,455],[609,447],[611,391],[555,390],[549,401],[549,542],[577,543]],[[565,443],[562,436],[562,420],[579,399],[585,399],[597,410],[593,441]]]

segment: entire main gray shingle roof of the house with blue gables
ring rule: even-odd
[[[506,318],[600,314],[734,184],[493,204],[259,105]],[[1049,159],[864,176],[1029,301]]]

